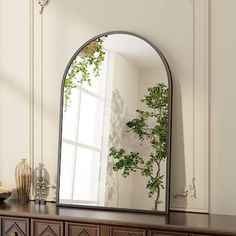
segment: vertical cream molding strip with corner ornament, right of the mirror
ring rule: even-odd
[[[192,4],[193,150],[187,184],[171,196],[171,209],[209,212],[209,0]]]

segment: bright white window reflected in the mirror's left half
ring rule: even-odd
[[[71,102],[63,113],[61,184],[67,187],[60,188],[60,197],[65,202],[86,205],[104,202],[107,153],[103,146],[109,135],[106,121],[111,97],[107,57],[108,53],[99,77],[91,73],[91,85],[78,84],[72,89]]]

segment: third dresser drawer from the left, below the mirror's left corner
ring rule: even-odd
[[[66,222],[65,236],[99,236],[99,225]]]

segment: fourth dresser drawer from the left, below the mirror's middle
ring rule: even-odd
[[[146,236],[146,229],[110,227],[111,236]]]

